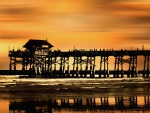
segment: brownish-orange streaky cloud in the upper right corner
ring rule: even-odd
[[[123,18],[128,24],[145,24],[150,22],[150,5],[137,3],[114,3],[101,6],[103,16]]]

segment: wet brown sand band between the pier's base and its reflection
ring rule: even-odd
[[[0,98],[71,98],[150,95],[150,79],[43,79],[0,77]]]

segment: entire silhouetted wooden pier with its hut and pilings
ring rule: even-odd
[[[109,77],[114,78],[137,77],[142,74],[143,77],[149,77],[150,74],[150,50],[54,50],[46,40],[29,40],[24,46],[24,51],[10,50],[10,68],[16,70],[17,64],[22,65],[22,71],[42,75],[43,77]],[[109,70],[109,56],[115,57],[114,70]],[[129,59],[123,59],[129,56]],[[143,56],[143,70],[137,70],[137,56]],[[96,58],[100,57],[100,63],[97,65],[99,70],[95,70]],[[72,58],[72,60],[70,60]],[[70,64],[72,62],[72,64]],[[123,70],[123,64],[128,63],[128,70]],[[83,66],[84,65],[84,66]],[[57,69],[59,67],[59,69]],[[12,72],[12,71],[11,71]],[[14,71],[15,72],[15,71]],[[22,72],[23,73],[23,72]]]

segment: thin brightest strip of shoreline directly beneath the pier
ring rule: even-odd
[[[0,76],[0,83],[4,82],[75,82],[75,83],[97,83],[97,82],[150,82],[150,78],[19,78],[15,76]]]

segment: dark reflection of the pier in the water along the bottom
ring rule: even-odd
[[[10,113],[149,113],[150,96],[12,101]]]

